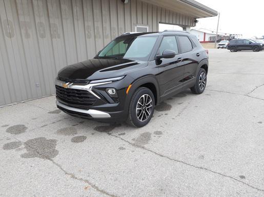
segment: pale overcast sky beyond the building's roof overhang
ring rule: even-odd
[[[196,0],[220,12],[219,32],[264,36],[264,0]],[[217,17],[201,18],[197,28],[216,30]]]

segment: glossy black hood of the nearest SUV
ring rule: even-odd
[[[94,58],[64,67],[58,72],[58,77],[67,81],[107,79],[123,76],[147,65],[147,62],[138,60]]]

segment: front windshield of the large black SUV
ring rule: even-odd
[[[148,61],[157,36],[123,37],[110,42],[96,58]]]

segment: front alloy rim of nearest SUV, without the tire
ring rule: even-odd
[[[142,95],[136,104],[136,117],[139,121],[146,121],[152,112],[152,99],[149,94]]]

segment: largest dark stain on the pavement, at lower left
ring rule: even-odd
[[[41,158],[41,159],[53,159],[58,155],[56,150],[57,140],[46,139],[45,137],[38,137],[29,139],[24,142],[24,146],[27,153],[21,155],[22,158]]]

